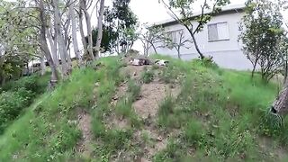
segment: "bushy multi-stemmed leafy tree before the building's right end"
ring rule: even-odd
[[[246,12],[243,18],[246,30],[240,38],[253,65],[252,77],[259,66],[262,78],[269,81],[284,65],[283,17],[279,5],[267,0],[249,0]]]

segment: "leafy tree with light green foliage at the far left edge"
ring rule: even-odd
[[[33,58],[41,58],[36,21],[23,8],[25,2],[0,1],[0,81],[21,76]]]

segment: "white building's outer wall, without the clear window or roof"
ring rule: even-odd
[[[242,43],[238,40],[238,35],[241,32],[239,29],[239,23],[244,14],[237,12],[230,12],[229,14],[220,14],[214,16],[207,25],[204,26],[203,30],[195,35],[199,49],[205,56],[212,56],[215,62],[220,67],[232,68],[238,70],[251,69],[251,63],[247,60],[243,54],[241,47]],[[208,25],[213,23],[224,23],[228,24],[229,40],[208,40]],[[196,23],[194,24],[194,26]],[[165,31],[177,31],[184,30],[185,39],[190,39],[190,34],[180,24],[172,24],[165,26]],[[181,49],[182,58],[189,60],[192,58],[198,58],[197,51],[193,44],[186,43],[186,46],[191,47],[190,49]],[[150,49],[150,53],[155,53],[153,49]],[[177,57],[175,49],[159,48],[157,53]]]

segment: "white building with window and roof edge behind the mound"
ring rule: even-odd
[[[244,4],[227,5],[222,7],[220,14],[213,16],[203,30],[195,34],[198,46],[205,56],[212,56],[213,60],[225,68],[246,70],[252,65],[243,54],[242,43],[238,39],[241,32],[241,19],[244,16]],[[197,15],[197,14],[195,14]],[[154,25],[161,25],[174,41],[179,40],[180,32],[184,32],[185,39],[190,39],[189,32],[175,20],[168,20]],[[197,23],[195,23],[197,25]],[[190,49],[181,49],[181,58],[184,60],[198,58],[199,55],[193,44]],[[149,49],[154,53],[153,49]],[[159,48],[157,53],[177,57],[175,49]]]

